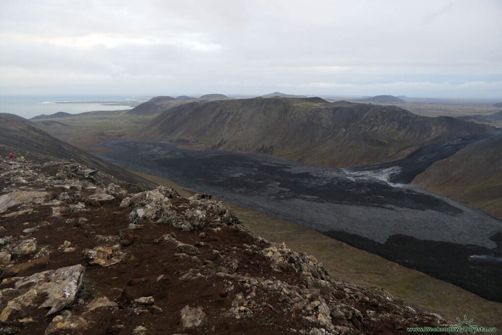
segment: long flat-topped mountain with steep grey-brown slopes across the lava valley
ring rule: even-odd
[[[396,160],[431,141],[493,129],[454,118],[422,117],[396,106],[259,97],[174,107],[129,138],[346,167]]]

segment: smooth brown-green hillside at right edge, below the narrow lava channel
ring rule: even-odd
[[[473,143],[438,161],[413,184],[502,217],[502,136]]]

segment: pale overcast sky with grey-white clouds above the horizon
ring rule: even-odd
[[[0,94],[502,97],[502,1],[0,0]]]

